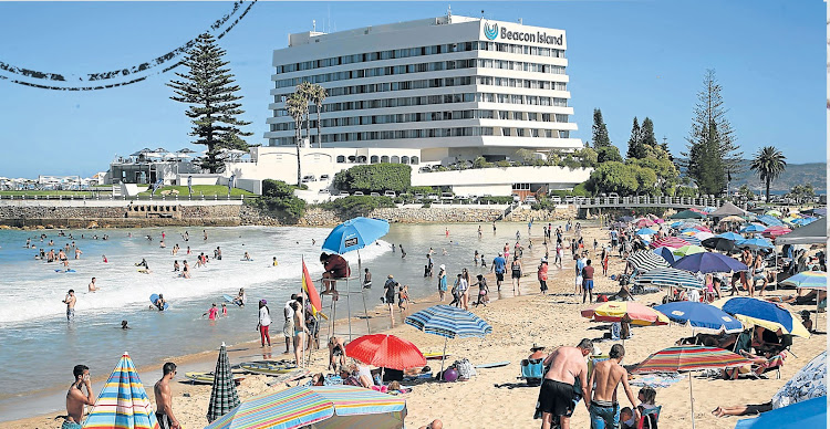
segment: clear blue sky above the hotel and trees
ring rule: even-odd
[[[227,34],[242,117],[264,143],[271,52],[291,32],[454,14],[564,29],[575,137],[590,139],[594,107],[625,150],[634,116],[654,121],[677,155],[685,148],[706,69],[724,87],[728,118],[747,155],[775,145],[793,164],[826,159],[826,4],[809,1],[266,2]],[[85,74],[154,59],[205,31],[230,2],[0,2],[0,61]],[[56,92],[0,80],[0,176],[91,176],[115,154],[189,145],[185,105],[169,100],[172,73],[124,87]]]

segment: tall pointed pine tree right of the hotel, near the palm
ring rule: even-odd
[[[694,108],[695,117],[692,119],[692,129],[688,137],[686,137],[688,151],[682,155],[687,157],[685,163],[692,178],[695,181],[698,179],[705,180],[705,178],[694,175],[712,168],[697,165],[701,163],[701,159],[693,156],[693,154],[702,154],[703,151],[695,150],[694,147],[707,144],[709,135],[713,134],[712,132],[715,132],[718,147],[717,153],[725,175],[724,182],[726,182],[732,175],[741,171],[739,163],[744,154],[738,150],[738,146],[735,144],[735,130],[726,118],[728,111],[724,107],[724,100],[720,95],[723,88],[715,77],[714,70],[706,71],[703,86],[704,88],[697,93],[698,102]],[[712,126],[713,124],[714,127]]]

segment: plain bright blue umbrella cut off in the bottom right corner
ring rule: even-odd
[[[812,398],[762,415],[738,420],[735,429],[805,429],[827,427],[827,396]]]

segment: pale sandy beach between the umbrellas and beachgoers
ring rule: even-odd
[[[569,237],[569,236],[567,236]],[[598,228],[583,229],[585,243],[593,243],[598,238],[601,243],[608,241],[608,231]],[[523,242],[526,240],[522,240]],[[587,248],[592,248],[588,245]],[[544,253],[541,245],[541,237],[533,238],[533,251],[525,252],[523,265],[526,276],[522,279],[522,292],[513,296],[509,283],[501,287],[500,300],[492,301],[488,306],[473,307],[470,311],[486,320],[492,325],[492,334],[485,338],[464,338],[449,341],[447,352],[452,354],[449,362],[468,358],[474,365],[509,360],[510,364],[499,368],[479,369],[478,375],[468,381],[459,383],[421,383],[413,391],[404,397],[407,400],[408,415],[407,427],[417,428],[432,419],[439,418],[445,428],[530,428],[538,427],[540,420],[533,420],[532,415],[538,387],[525,387],[517,379],[519,375],[519,362],[530,354],[532,344],[543,345],[550,352],[557,346],[575,345],[581,338],[601,338],[608,332],[608,325],[593,323],[582,318],[579,311],[585,305],[581,296],[575,297],[573,293],[573,261],[567,255],[563,270],[550,266],[550,291],[548,295],[541,295],[536,280],[536,266],[539,258]],[[599,257],[594,255],[595,260]],[[471,264],[471,262],[470,262]],[[610,278],[602,276],[599,263],[596,286],[598,292],[616,292],[619,285]],[[610,260],[609,274],[618,274],[623,271],[622,261],[613,257]],[[454,273],[449,273],[454,275]],[[492,275],[488,276],[488,284],[492,295],[496,295],[496,282]],[[792,291],[768,291],[769,295],[786,294]],[[660,302],[663,293],[639,295],[637,301],[643,304]],[[407,314],[422,307],[437,303],[437,296],[419,300]],[[792,306],[790,310],[812,310],[809,306]],[[402,323],[403,315],[396,312],[395,327],[390,327],[388,313],[375,307],[371,311],[374,329],[384,329],[390,334],[401,336],[415,343],[422,352],[439,352],[444,345],[444,338],[435,335],[424,334],[412,326]],[[710,411],[717,406],[732,406],[744,404],[762,404],[770,397],[805,364],[812,357],[827,348],[826,314],[820,314],[819,331],[821,334],[812,335],[810,338],[795,338],[792,352],[780,370],[780,379],[776,373],[768,373],[766,378],[750,380],[741,379],[735,381],[699,378],[693,375],[694,407],[696,423],[701,428],[733,428],[737,419],[716,418]],[[272,332],[274,335],[271,350],[262,349],[257,343],[245,343],[235,345],[230,354],[231,363],[241,362],[246,356],[260,356],[263,353],[272,353],[274,359],[287,357],[281,355],[283,343],[279,336],[279,329]],[[626,356],[624,365],[641,362],[650,354],[674,345],[681,337],[689,336],[691,329],[677,325],[647,326],[633,329],[633,337],[625,342]],[[324,342],[321,335],[321,343]],[[603,353],[608,353],[615,342],[603,341],[596,343]],[[199,355],[172,358],[180,367],[199,368],[212,370],[216,354],[204,353]],[[113,358],[115,362],[115,357]],[[312,354],[310,369],[323,372],[328,364],[328,350],[317,350]],[[428,365],[437,370],[439,360],[429,360]],[[146,370],[147,368],[143,368]],[[157,370],[155,378],[143,378],[145,388],[151,393],[152,386],[160,376]],[[178,379],[184,379],[184,372],[179,370]],[[242,400],[264,394],[279,391],[286,385],[269,387],[266,376],[247,376],[238,387]],[[307,380],[302,380],[304,383]],[[515,388],[496,387],[495,385],[516,384]],[[93,384],[95,393],[101,383]],[[634,388],[636,389],[636,387]],[[622,397],[624,394],[620,391]],[[205,414],[207,410],[210,386],[189,385],[175,383],[173,385],[174,411],[179,421],[186,428],[201,428],[207,425]],[[687,379],[681,380],[667,388],[657,389],[656,404],[663,407],[660,425],[661,428],[687,428],[691,427],[689,385]],[[622,406],[630,406],[627,400],[621,401]],[[32,417],[23,420],[0,423],[0,429],[30,429],[30,428],[60,428],[62,419],[54,419],[63,412],[54,412],[44,416]],[[572,418],[575,428],[588,428],[589,416],[583,405],[577,408]]]

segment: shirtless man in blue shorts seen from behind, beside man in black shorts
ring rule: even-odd
[[[591,379],[585,390],[585,398],[591,398],[593,393],[591,405],[588,407],[591,414],[591,429],[620,428],[620,404],[616,401],[616,387],[620,383],[631,401],[634,419],[639,419],[634,394],[629,386],[629,372],[620,365],[623,356],[625,356],[625,348],[621,344],[614,344],[609,352],[609,359],[596,364],[591,372]],[[594,383],[596,383],[596,388],[592,391]]]

